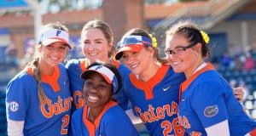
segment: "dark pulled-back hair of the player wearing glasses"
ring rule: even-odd
[[[210,55],[210,48],[201,35],[201,30],[191,21],[183,20],[166,31],[166,37],[174,34],[183,35],[188,42],[201,43],[201,56],[207,58]]]

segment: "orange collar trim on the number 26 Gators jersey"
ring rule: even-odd
[[[162,81],[162,79],[166,76],[166,72],[169,70],[170,65],[162,65],[158,71],[154,74],[154,77],[151,77],[148,82],[143,82],[137,79],[136,75],[130,74],[129,77],[131,79],[131,83],[139,89],[142,89],[146,99],[153,99],[153,88],[156,84]]]

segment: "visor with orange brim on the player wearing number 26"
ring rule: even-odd
[[[152,47],[152,40],[144,36],[123,37],[117,44],[115,59],[120,59],[124,51],[140,52],[145,46]]]

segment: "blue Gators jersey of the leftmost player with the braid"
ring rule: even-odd
[[[32,68],[21,71],[7,87],[7,117],[25,121],[24,135],[67,135],[72,97],[67,71],[63,65],[55,66],[51,76],[41,75],[44,94],[48,99],[38,99],[38,82]]]

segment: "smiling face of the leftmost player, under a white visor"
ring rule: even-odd
[[[46,67],[59,65],[65,59],[67,48],[67,45],[63,42],[54,42],[47,46],[41,46],[38,49],[40,63]]]

